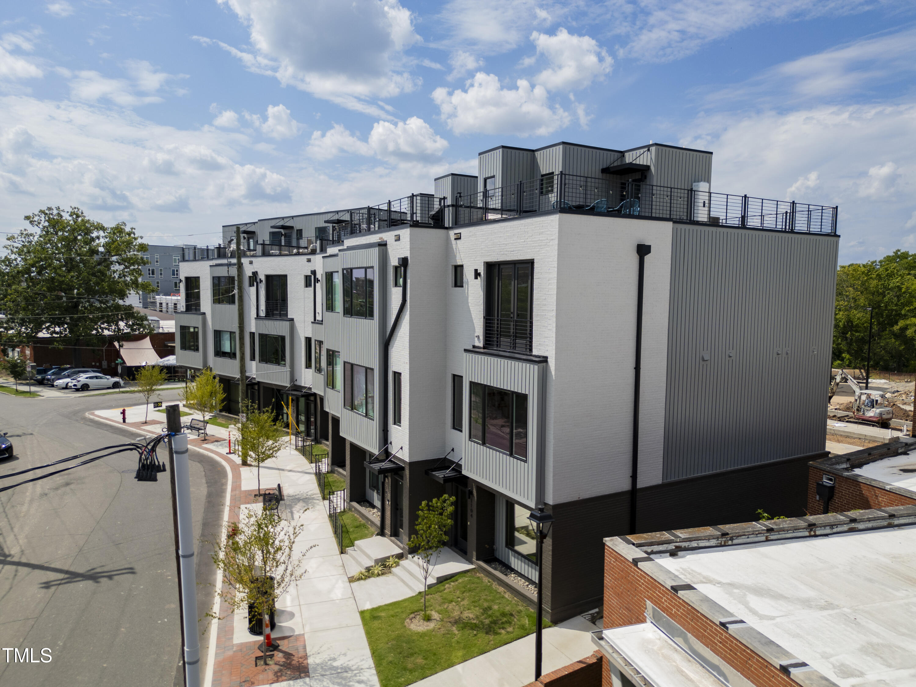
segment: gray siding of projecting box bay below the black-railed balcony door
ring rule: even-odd
[[[537,501],[539,460],[542,455],[540,418],[543,405],[543,368],[545,363],[485,354],[464,354],[464,458],[463,473],[516,500],[535,507]],[[528,461],[500,453],[470,439],[470,383],[528,394]]]

